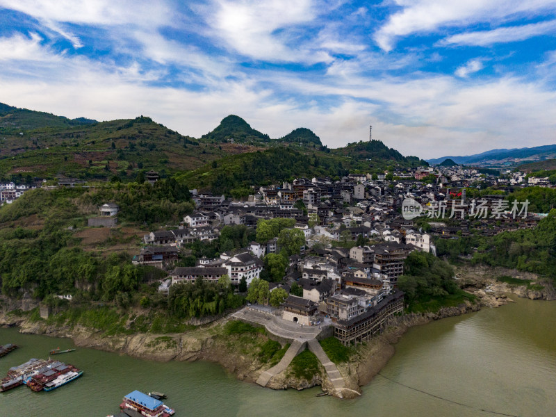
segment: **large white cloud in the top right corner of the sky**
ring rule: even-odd
[[[447,26],[493,22],[510,16],[534,16],[556,9],[555,0],[395,0],[402,10],[394,13],[375,33],[375,42],[391,51],[395,39],[412,33],[433,33]]]

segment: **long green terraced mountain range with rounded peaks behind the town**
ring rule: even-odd
[[[270,139],[236,115],[195,139],[146,116],[70,120],[0,104],[0,179],[18,183],[33,177],[125,182],[155,170],[161,177],[179,174],[192,187],[226,193],[239,188],[243,195],[254,183],[297,176],[339,179],[347,170],[379,173],[418,165],[426,163],[379,140],[329,149],[306,128]]]

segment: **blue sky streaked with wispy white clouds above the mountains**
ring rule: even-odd
[[[556,142],[556,0],[0,0],[0,102],[421,158]]]

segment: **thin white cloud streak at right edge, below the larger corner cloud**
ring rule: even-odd
[[[508,26],[493,29],[492,31],[475,31],[459,33],[445,38],[439,44],[458,44],[486,47],[491,44],[516,42],[526,40],[538,35],[555,35],[556,20],[521,26]]]

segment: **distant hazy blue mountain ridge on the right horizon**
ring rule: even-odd
[[[447,158],[462,165],[515,166],[525,161],[543,161],[556,156],[556,145],[543,145],[530,148],[491,149],[481,154],[467,156],[443,156],[427,159],[431,165],[438,165]]]

